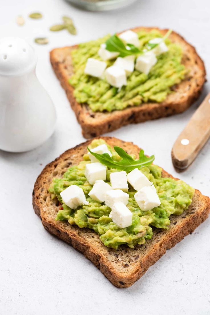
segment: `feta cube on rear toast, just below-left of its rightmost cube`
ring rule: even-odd
[[[148,74],[151,68],[156,64],[157,58],[152,51],[148,51],[138,56],[135,62],[135,69]]]

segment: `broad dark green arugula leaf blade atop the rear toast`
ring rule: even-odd
[[[140,53],[140,50],[133,44],[127,44],[127,46],[125,46],[116,34],[108,38],[106,41],[106,49],[108,51],[118,52],[119,57],[126,57]]]

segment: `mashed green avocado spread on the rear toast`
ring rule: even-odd
[[[141,48],[155,38],[162,37],[160,32],[140,31],[137,33]],[[185,66],[181,64],[182,49],[177,44],[165,40],[168,52],[159,55],[158,61],[148,75],[134,70],[128,77],[127,85],[120,91],[110,86],[105,80],[88,76],[84,73],[88,58],[101,60],[98,49],[110,37],[107,35],[95,41],[82,43],[77,49],[72,50],[74,75],[69,78],[69,83],[75,88],[74,96],[79,103],[87,103],[93,112],[112,112],[122,110],[128,106],[139,106],[146,102],[162,102],[171,87],[180,83],[186,74]],[[112,66],[115,60],[108,60],[107,66]]]

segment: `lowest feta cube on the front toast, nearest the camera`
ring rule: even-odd
[[[121,228],[132,224],[132,212],[121,201],[113,204],[109,217]]]

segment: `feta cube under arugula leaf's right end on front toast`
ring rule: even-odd
[[[128,173],[127,180],[130,185],[133,186],[135,190],[137,190],[137,192],[145,186],[152,185],[151,181],[149,181],[139,169],[133,169],[130,173]]]

